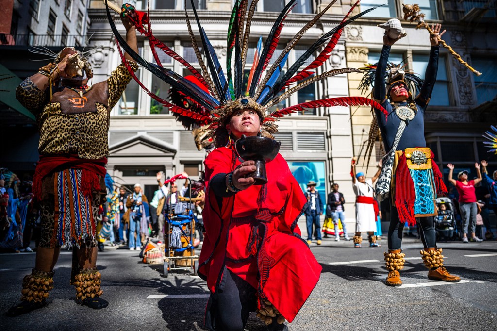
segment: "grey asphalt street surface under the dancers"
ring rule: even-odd
[[[385,237],[384,237],[385,238]],[[366,244],[366,241],[363,241]],[[323,266],[321,279],[290,330],[497,330],[497,242],[439,243],[445,266],[461,276],[457,284],[429,280],[419,240],[406,239],[402,287],[387,287],[381,248],[353,248],[324,239],[311,249]],[[7,318],[18,303],[21,280],[34,266],[34,253],[0,256],[1,330],[204,330],[208,290],[191,272],[161,276],[162,266],[144,264],[138,251],[106,248],[98,255],[106,309],[91,310],[74,300],[69,285],[71,252],[56,266],[48,306]],[[283,281],[283,279],[282,279]],[[266,330],[250,316],[247,330]]]

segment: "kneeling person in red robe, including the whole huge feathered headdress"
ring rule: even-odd
[[[206,234],[198,269],[198,274],[207,281],[211,291],[205,318],[206,327],[211,330],[243,330],[248,312],[255,309],[259,311],[258,317],[271,330],[286,328],[283,325],[284,319],[293,321],[316,285],[321,271],[321,266],[313,257],[307,243],[300,238],[300,230],[296,226],[307,201],[286,161],[281,155],[277,155],[266,164],[268,183],[253,185],[253,178],[244,176],[253,171],[254,163],[241,162],[234,150],[233,141],[239,139],[242,134],[255,136],[259,132],[266,138],[273,138],[272,133],[277,131],[274,123],[276,119],[306,108],[360,104],[374,106],[386,113],[383,107],[371,99],[347,96],[313,100],[267,114],[273,105],[311,83],[342,73],[358,72],[356,69],[347,68],[313,76],[315,69],[320,68],[330,58],[344,27],[374,7],[348,18],[358,4],[356,2],[340,24],[316,40],[282,74],[290,51],[334,3],[330,2],[316,14],[288,41],[284,50],[275,52],[284,20],[296,4],[296,0],[289,0],[274,22],[264,47],[262,37],[259,38],[259,47],[255,50],[255,61],[252,63],[246,84],[243,68],[247,62],[250,23],[256,3],[257,1],[252,1],[248,5],[247,0],[235,1],[227,29],[227,76],[202,28],[194,6],[192,9],[200,39],[197,39],[192,31],[188,11],[185,11],[185,14],[201,72],[160,42],[148,25],[149,15],[137,11],[138,19],[134,24],[138,31],[151,41],[153,49],[164,50],[189,70],[207,91],[177,73],[159,70],[158,66],[162,67],[162,64],[158,56],[154,56],[157,63],[154,64],[133,52],[113,25],[110,10],[107,8],[107,17],[117,43],[144,69],[206,110],[190,110],[186,104],[176,105],[164,100],[145,88],[132,74],[154,100],[172,112],[193,119],[199,127],[209,125],[211,137],[214,138],[216,149],[205,161],[206,202],[203,221]],[[205,57],[200,53],[200,42]],[[312,54],[325,45],[316,60],[304,70],[300,70]],[[232,62],[233,55],[235,59]],[[276,59],[272,58],[273,55]],[[273,63],[271,66],[270,62]],[[296,83],[295,86],[287,87],[292,83]]]

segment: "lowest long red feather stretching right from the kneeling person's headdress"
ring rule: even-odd
[[[318,108],[318,107],[334,107],[334,106],[370,106],[376,108],[385,114],[385,117],[388,115],[388,112],[385,108],[381,106],[376,101],[373,101],[369,98],[365,98],[363,96],[343,96],[337,98],[328,98],[315,100],[310,102],[304,102],[297,104],[295,106],[286,107],[280,110],[276,110],[270,114],[271,117],[279,118],[295,111],[302,111],[305,108]]]

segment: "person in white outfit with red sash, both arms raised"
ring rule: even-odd
[[[352,185],[355,193],[355,236],[354,247],[360,248],[362,243],[361,232],[368,233],[369,247],[380,247],[376,243],[376,217],[378,215],[378,205],[373,197],[373,182],[380,175],[381,163],[378,171],[371,179],[366,179],[364,172],[355,171],[355,160],[351,162]]]

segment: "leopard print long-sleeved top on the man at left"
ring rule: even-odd
[[[138,70],[136,63],[131,67]],[[96,102],[96,112],[83,113],[62,112],[59,102],[48,103],[47,92],[41,91],[29,78],[24,80],[16,89],[16,98],[36,115],[40,130],[38,152],[43,155],[73,154],[91,160],[106,157],[109,154],[109,111],[119,101],[130,80],[131,75],[121,64],[106,81],[108,106]]]

